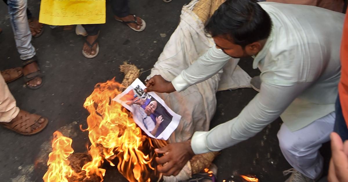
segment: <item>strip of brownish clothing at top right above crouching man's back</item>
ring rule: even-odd
[[[266,0],[269,2],[280,2],[288,4],[298,4],[298,5],[311,5],[317,6],[325,9],[330,9],[332,11],[342,12],[344,1],[342,0]]]

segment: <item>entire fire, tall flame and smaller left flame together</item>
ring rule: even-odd
[[[111,101],[120,93],[120,86],[114,79],[97,84],[84,103],[90,113],[85,131],[88,131],[91,143],[88,153],[92,156],[92,161],[85,164],[82,170],[86,172],[87,178],[97,175],[103,181],[105,170],[101,166],[104,159],[114,166],[114,159],[118,158],[118,170],[128,181],[150,181],[150,177],[144,179],[144,176],[149,176],[148,169],[154,168],[150,164],[152,157],[140,150],[143,145],[141,129],[119,103]],[[68,181],[66,176],[77,175],[69,169],[69,161],[66,159],[73,153],[72,140],[61,134],[58,136],[60,138],[53,140],[53,152],[49,155],[45,182]]]

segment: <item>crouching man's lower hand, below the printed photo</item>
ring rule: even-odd
[[[165,176],[176,176],[184,165],[195,155],[191,148],[191,141],[169,144],[163,148],[155,149],[159,154],[167,153],[163,157],[156,157],[157,170]]]

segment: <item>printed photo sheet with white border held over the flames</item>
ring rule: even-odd
[[[174,113],[156,93],[145,93],[145,88],[136,79],[112,100],[132,112],[135,123],[149,137],[167,140],[179,125],[181,116]]]

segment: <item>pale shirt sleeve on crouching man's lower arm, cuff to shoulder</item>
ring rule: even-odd
[[[240,114],[210,131],[197,131],[191,139],[195,154],[220,151],[260,132],[279,117],[288,105],[311,83],[279,86],[262,82],[261,91]]]

